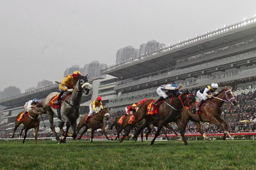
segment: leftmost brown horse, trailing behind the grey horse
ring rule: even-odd
[[[15,127],[12,133],[12,136],[10,138],[14,137],[14,133],[19,127],[19,125],[22,123],[24,126],[21,129],[21,133],[19,136],[21,136],[23,130],[25,130],[25,135],[22,143],[24,144],[25,139],[27,138],[27,131],[35,128],[35,144],[37,144],[37,132],[39,130],[39,124],[40,124],[40,119],[39,115],[41,114],[46,114],[45,108],[43,107],[43,103],[37,103],[36,107],[34,109],[31,109],[28,111],[27,115],[23,118],[23,120],[18,120],[19,117],[21,117],[21,114],[25,113],[25,111],[22,111],[19,113],[15,119]]]

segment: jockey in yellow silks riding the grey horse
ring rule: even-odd
[[[81,75],[80,71],[74,71],[73,74],[67,75],[62,79],[59,85],[60,95],[54,101],[54,104],[60,104],[60,97],[63,95],[64,92],[72,92],[74,89],[74,86],[76,85],[76,81],[78,80],[78,77]]]

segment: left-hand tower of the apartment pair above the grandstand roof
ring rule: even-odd
[[[139,49],[135,49],[132,46],[124,47],[119,49],[116,53],[116,63],[123,63],[129,61],[130,59],[138,58]]]

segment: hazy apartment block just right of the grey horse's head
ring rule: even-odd
[[[101,75],[101,70],[106,69],[107,64],[100,64],[99,61],[92,61],[86,64],[83,68],[84,75],[89,75],[89,79],[94,79],[97,77],[106,77],[106,75]]]

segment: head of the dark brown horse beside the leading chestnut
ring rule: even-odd
[[[188,89],[186,89],[185,93],[182,93],[179,96],[180,101],[182,102],[183,108],[188,108],[192,111],[192,113],[196,113],[196,97],[194,93],[191,93]]]

